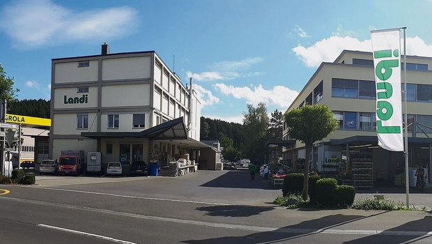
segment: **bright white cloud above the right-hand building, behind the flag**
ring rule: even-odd
[[[350,36],[331,36],[309,47],[298,45],[293,48],[293,52],[302,59],[305,66],[318,67],[322,62],[334,61],[344,49],[371,52],[371,40],[358,40]],[[406,52],[408,55],[432,56],[432,45],[426,44],[418,36],[406,38]]]

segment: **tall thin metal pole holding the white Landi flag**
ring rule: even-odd
[[[403,29],[403,57],[405,63],[405,81],[403,82],[403,99],[405,100],[405,187],[406,187],[406,207],[410,208],[410,178],[409,178],[409,165],[408,165],[408,101],[407,101],[407,93],[406,90],[406,27],[402,27]]]

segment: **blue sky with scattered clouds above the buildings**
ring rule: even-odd
[[[247,103],[284,112],[323,61],[371,51],[370,31],[407,26],[432,56],[432,1],[0,1],[0,63],[18,98],[49,99],[51,59],[155,50],[203,116],[242,121]],[[175,56],[175,69],[173,67]]]

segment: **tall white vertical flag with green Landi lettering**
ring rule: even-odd
[[[378,145],[403,151],[400,30],[372,31]]]

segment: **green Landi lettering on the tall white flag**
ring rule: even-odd
[[[376,103],[376,115],[378,119],[376,120],[376,132],[383,134],[399,134],[401,133],[400,126],[384,126],[383,121],[388,121],[393,115],[393,106],[390,102],[385,101],[385,99],[392,98],[393,96],[393,86],[389,82],[385,82],[387,79],[392,77],[393,68],[399,67],[398,59],[388,59],[392,57],[399,56],[399,49],[380,50],[373,52],[375,59],[386,59],[380,61],[376,65],[375,75],[378,79],[383,82],[377,82],[376,89],[378,91]]]

